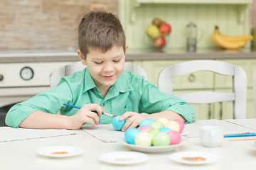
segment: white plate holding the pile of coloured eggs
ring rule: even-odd
[[[178,147],[181,147],[186,144],[187,138],[181,137],[181,142],[177,145],[168,145],[168,146],[139,146],[139,145],[132,145],[127,143],[124,140],[124,137],[122,137],[119,142],[122,145],[125,145],[129,147],[132,150],[139,151],[139,152],[148,152],[148,153],[160,153],[160,152],[171,152],[175,149],[178,149]]]

